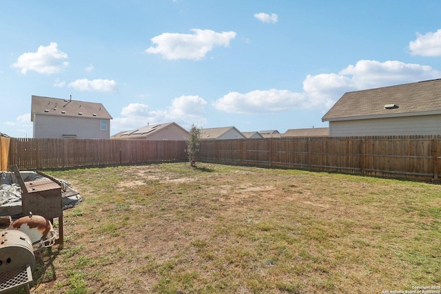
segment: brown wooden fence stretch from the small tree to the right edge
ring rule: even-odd
[[[202,140],[198,160],[438,180],[441,136]]]

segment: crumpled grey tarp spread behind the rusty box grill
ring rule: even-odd
[[[24,182],[45,178],[34,171],[20,171],[20,175]],[[66,189],[61,191],[63,209],[74,207],[83,201],[79,191],[73,189],[69,182],[59,182]],[[21,216],[21,187],[15,174],[9,171],[0,171],[0,216]]]

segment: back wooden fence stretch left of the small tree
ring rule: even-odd
[[[184,140],[12,138],[8,168],[12,165],[25,170],[184,160],[185,146]]]

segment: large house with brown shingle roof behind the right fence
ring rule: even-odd
[[[347,92],[322,121],[329,136],[441,134],[441,79]]]

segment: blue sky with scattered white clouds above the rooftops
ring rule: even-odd
[[[5,1],[0,132],[31,96],[103,103],[110,134],[150,123],[328,127],[349,91],[441,78],[441,1]]]

